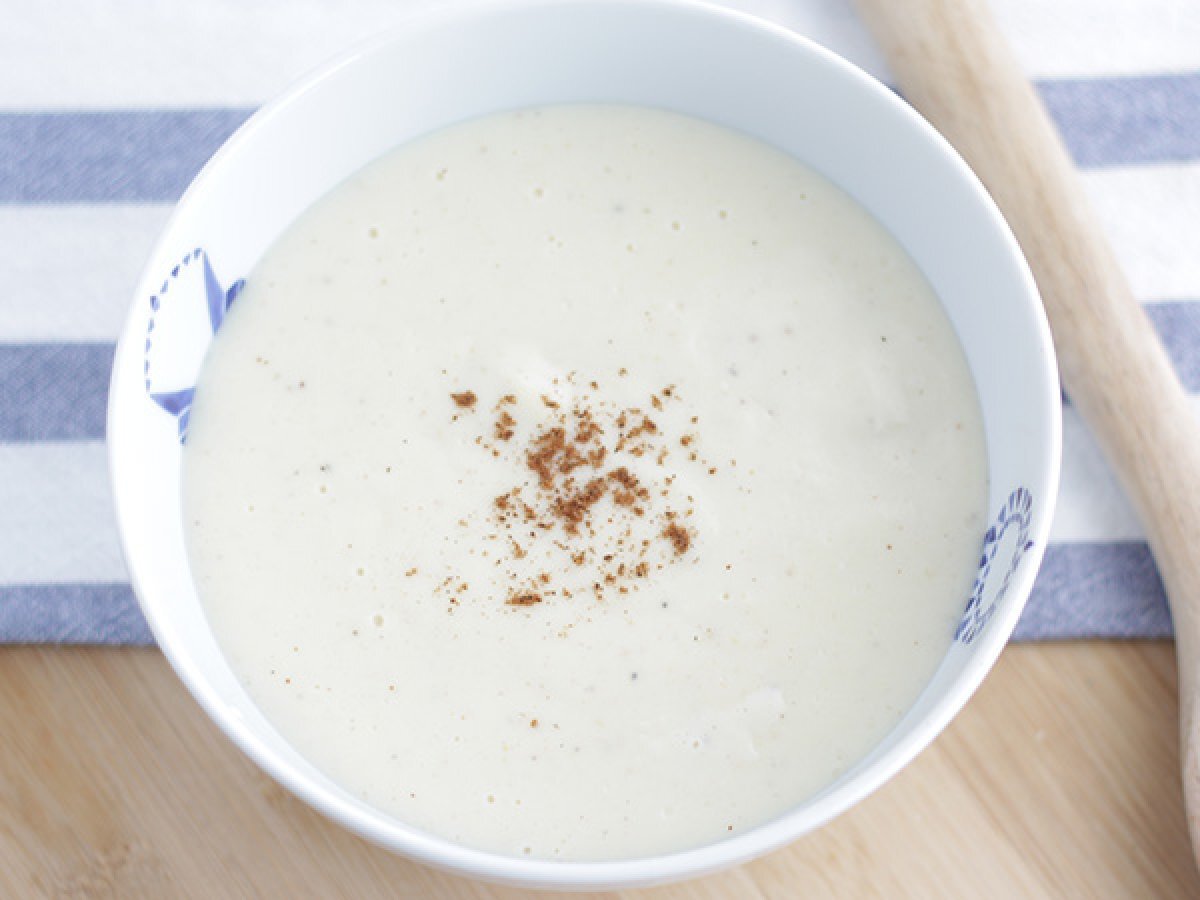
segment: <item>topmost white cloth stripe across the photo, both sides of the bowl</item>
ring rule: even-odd
[[[0,7],[0,107],[254,106],[347,46],[432,5],[18,0]],[[886,76],[846,0],[722,5],[792,28]],[[992,6],[1031,76],[1200,68],[1195,0],[996,0]]]

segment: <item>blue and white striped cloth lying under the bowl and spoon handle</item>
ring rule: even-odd
[[[0,641],[151,640],[104,458],[108,366],[139,268],[258,103],[427,5],[0,0]],[[847,0],[731,5],[888,79]],[[1200,2],[994,6],[1200,394]],[[1064,430],[1060,511],[1018,636],[1170,634],[1141,528],[1069,404]]]

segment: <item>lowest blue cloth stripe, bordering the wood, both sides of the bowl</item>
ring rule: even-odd
[[[1170,635],[1163,584],[1145,544],[1055,544],[1013,640]],[[0,643],[152,642],[128,584],[0,588]]]

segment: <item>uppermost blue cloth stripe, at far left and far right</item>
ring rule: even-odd
[[[1038,89],[1080,166],[1200,160],[1200,73]],[[251,112],[0,114],[0,203],[172,203]]]

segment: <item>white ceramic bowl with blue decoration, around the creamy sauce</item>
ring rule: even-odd
[[[602,863],[509,858],[406,826],[310,766],[256,709],[209,631],[184,547],[180,434],[215,328],[276,236],[386,150],[500,109],[610,101],[712,120],[799,157],[848,191],[916,259],[954,323],[982,401],[990,516],[955,641],[895,730],[836,784],[707,847]],[[259,766],[343,826],[415,859],[558,888],[648,884],[760,856],[827,822],[917,755],[1007,642],[1049,533],[1060,394],[1033,280],[962,161],[902,101],[779,28],[666,0],[506,0],[410,22],[254,115],[184,196],[150,258],[113,371],[116,512],[142,608],[209,715]]]

